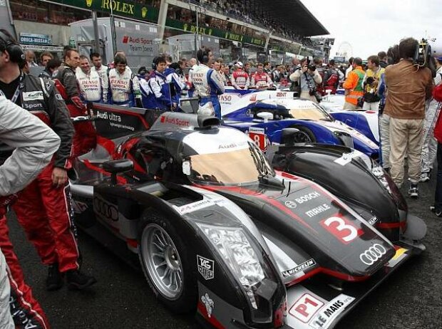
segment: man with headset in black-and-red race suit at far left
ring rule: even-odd
[[[16,105],[38,116],[61,139],[61,146],[51,162],[19,194],[13,209],[26,236],[37,249],[43,264],[48,265],[46,289],[63,286],[83,289],[96,283],[93,276],[79,271],[79,253],[71,222],[71,202],[67,170],[73,138],[73,125],[66,104],[51,80],[22,73],[24,52],[8,31],[0,29],[0,90]],[[0,221],[0,227],[6,221]],[[4,229],[4,231],[7,231]],[[7,235],[0,234],[1,249],[12,249]],[[16,263],[8,255],[6,261]],[[13,276],[22,279],[19,268],[11,266]]]

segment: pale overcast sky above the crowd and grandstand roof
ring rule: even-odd
[[[433,50],[442,49],[441,0],[301,1],[335,38],[331,58],[347,48],[352,50],[347,58],[366,59],[408,36],[436,38]]]

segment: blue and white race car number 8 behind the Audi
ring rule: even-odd
[[[223,119],[225,125],[249,133],[262,149],[266,147],[263,137],[267,136],[272,145],[318,142],[351,147],[374,159],[379,156],[375,142],[344,122],[335,120],[311,100],[288,97],[257,100],[245,108],[224,114]]]

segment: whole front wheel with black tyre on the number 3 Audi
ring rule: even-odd
[[[183,239],[162,214],[143,212],[138,229],[138,258],[155,296],[174,313],[197,306],[197,281]]]

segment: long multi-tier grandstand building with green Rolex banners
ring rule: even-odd
[[[269,58],[274,63],[284,63],[294,56],[323,56],[324,45],[312,42],[310,37],[329,32],[300,0],[11,0],[12,18],[16,23],[16,35],[20,33],[48,33],[48,24],[60,26],[53,41],[57,46],[68,43],[68,24],[91,17],[113,14],[120,19],[154,23],[162,50],[180,49],[180,56],[192,53],[197,41],[185,40],[185,49],[179,44],[179,36],[196,33],[215,40],[215,53],[226,61],[257,61]],[[108,6],[104,6],[107,3]],[[131,6],[133,11],[118,10],[117,4]],[[111,4],[111,6],[109,5]],[[67,7],[66,7],[67,6]],[[110,8],[113,6],[113,10]],[[35,10],[32,10],[33,7]],[[51,29],[49,29],[51,30]],[[50,32],[53,33],[51,30]],[[57,36],[59,36],[57,38]],[[178,44],[176,43],[178,42]],[[219,45],[219,46],[218,46]],[[327,48],[325,48],[327,51]]]

